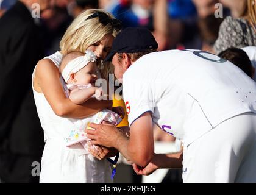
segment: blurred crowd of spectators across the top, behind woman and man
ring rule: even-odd
[[[16,0],[2,0],[0,16]],[[236,0],[234,0],[236,1]],[[212,51],[225,16],[239,17],[242,1],[216,0],[55,0],[54,5],[41,15],[46,51],[52,54],[66,28],[79,13],[86,9],[105,9],[123,22],[123,27],[147,27],[154,33],[163,49],[204,49]],[[216,18],[215,4],[224,5],[223,17]]]

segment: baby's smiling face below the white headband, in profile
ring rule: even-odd
[[[89,83],[95,83],[97,76],[96,76],[96,63],[89,62],[84,68],[80,69],[75,74],[76,84],[77,85],[87,85]]]

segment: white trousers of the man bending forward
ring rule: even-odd
[[[183,182],[256,182],[256,115],[222,122],[184,147]]]

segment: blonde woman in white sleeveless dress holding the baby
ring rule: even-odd
[[[44,130],[44,152],[41,160],[40,182],[111,182],[110,164],[105,157],[116,151],[99,147],[97,158],[80,155],[80,148],[65,146],[72,124],[67,118],[84,118],[112,107],[112,101],[90,99],[82,105],[66,98],[60,62],[69,52],[91,49],[98,57],[101,76],[107,79],[109,66],[102,66],[112,47],[120,23],[104,10],[91,9],[74,19],[60,41],[60,51],[40,60],[32,76],[35,104]]]

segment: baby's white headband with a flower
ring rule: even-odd
[[[96,59],[97,57],[93,51],[87,49],[87,51],[85,51],[85,55],[76,57],[75,59],[71,60],[62,71],[62,77],[65,82],[68,82],[71,73],[80,71],[80,69],[88,65],[89,62],[96,62]]]

